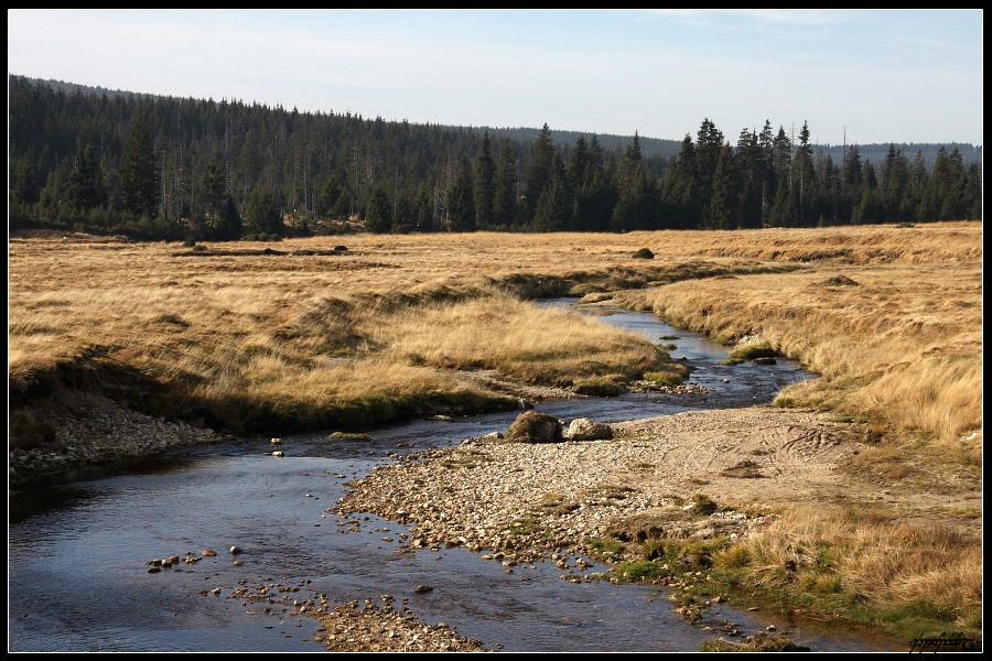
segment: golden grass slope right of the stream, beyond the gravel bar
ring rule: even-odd
[[[838,274],[856,284],[831,284]],[[625,300],[802,360],[822,378],[784,393],[797,403],[866,413],[889,431],[921,430],[946,444],[982,427],[980,263],[818,266],[679,282]]]

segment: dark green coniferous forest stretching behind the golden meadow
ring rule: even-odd
[[[139,239],[736,229],[981,219],[981,166],[709,119],[678,153],[9,77],[9,228]]]

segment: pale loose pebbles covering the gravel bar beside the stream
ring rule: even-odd
[[[688,429],[698,424],[691,416],[680,418],[680,423]],[[418,532],[410,544],[412,549],[465,546],[503,560],[493,554],[535,546],[530,551],[533,559],[509,560],[530,564],[539,556],[557,554],[554,560],[565,568],[567,557],[582,551],[575,548],[576,540],[600,537],[617,519],[676,502],[670,487],[660,483],[626,492],[624,498],[610,498],[599,488],[616,484],[617,476],[630,466],[657,462],[659,455],[666,454],[668,443],[660,436],[644,435],[533,445],[466,438],[457,447],[432,449],[411,455],[411,460],[380,466],[352,483],[338,506],[325,511],[345,519],[352,513],[373,512],[413,523]],[[452,464],[475,467],[451,468]],[[552,492],[561,503],[575,507],[542,508],[544,496]],[[537,510],[540,530],[515,534],[514,521],[528,510]],[[768,522],[768,518],[758,516],[718,511],[680,525],[686,538],[718,533],[743,537]],[[544,539],[539,542],[542,535]],[[601,555],[616,562],[606,552]],[[513,566],[505,564],[507,568]]]

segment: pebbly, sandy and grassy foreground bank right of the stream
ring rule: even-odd
[[[608,441],[466,440],[378,468],[328,511],[416,525],[401,551],[463,545],[508,571],[553,562],[572,582],[677,587],[690,621],[704,620],[708,599],[775,600],[887,622],[908,639],[941,626],[938,608],[972,613],[959,599],[981,584],[981,521],[968,518],[980,484],[966,476],[947,476],[959,489],[938,500],[859,475],[850,466],[873,451],[863,425],[812,410],[694,411],[612,429]],[[931,594],[929,620],[917,611],[908,627],[894,590],[938,567],[957,579]],[[980,633],[980,624],[944,626]]]

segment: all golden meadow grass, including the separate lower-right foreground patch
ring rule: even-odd
[[[341,242],[348,250],[332,253]],[[655,259],[633,258],[645,247]],[[35,415],[62,388],[130,375],[175,411],[284,433],[511,405],[463,378],[479,369],[559,388],[664,371],[660,347],[528,303],[614,292],[619,305],[821,375],[776,404],[850,423],[871,444],[841,466],[852,476],[935,498],[953,476],[981,479],[977,223],[205,249],[48,234],[11,238],[8,260],[11,408]],[[714,566],[812,611],[867,608],[906,636],[934,622],[981,630],[980,540],[953,517],[935,525],[909,510],[855,509],[785,507],[779,524],[722,550]],[[980,507],[974,517],[980,529]],[[784,573],[788,561],[799,571]]]

